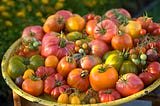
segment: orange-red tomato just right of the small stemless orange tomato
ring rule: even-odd
[[[67,77],[68,73],[76,68],[76,60],[71,56],[64,56],[58,63],[57,72]]]

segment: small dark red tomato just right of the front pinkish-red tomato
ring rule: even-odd
[[[149,85],[156,80],[156,77],[150,72],[142,72],[139,78],[143,81],[144,85]]]

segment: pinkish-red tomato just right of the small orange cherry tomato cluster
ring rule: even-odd
[[[89,46],[91,47],[91,54],[95,54],[99,57],[103,57],[103,55],[109,51],[108,45],[102,40],[92,40]]]

